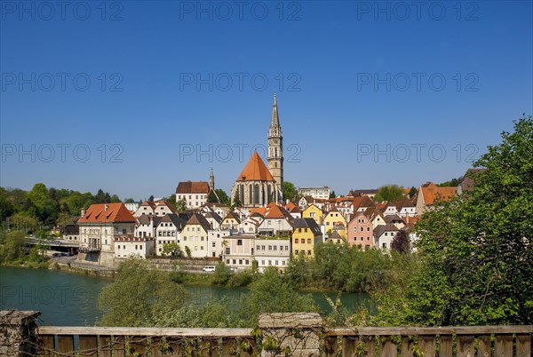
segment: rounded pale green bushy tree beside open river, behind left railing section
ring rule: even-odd
[[[103,313],[100,326],[155,326],[184,305],[186,291],[171,281],[171,275],[149,270],[147,261],[128,258],[118,267],[114,282],[99,294],[99,309]]]

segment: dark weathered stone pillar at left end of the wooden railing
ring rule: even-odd
[[[0,310],[0,355],[36,355],[39,311]]]

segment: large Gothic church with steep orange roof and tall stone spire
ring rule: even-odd
[[[280,202],[283,198],[283,137],[277,101],[274,93],[272,118],[268,130],[267,165],[256,152],[235,180],[231,199],[241,202],[242,207],[253,208]]]

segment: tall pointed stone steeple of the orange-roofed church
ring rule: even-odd
[[[275,179],[275,183],[279,186],[280,190],[282,190],[283,136],[275,93],[274,103],[272,104],[272,118],[270,120],[270,129],[268,130],[268,170],[270,171],[270,173],[272,173],[272,176]]]

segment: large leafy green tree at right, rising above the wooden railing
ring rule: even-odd
[[[504,131],[474,167],[486,171],[472,174],[472,191],[418,222],[421,263],[395,285],[381,309],[385,323],[533,323],[532,117]]]

